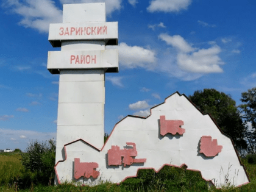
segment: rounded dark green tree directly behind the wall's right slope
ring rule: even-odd
[[[203,113],[210,113],[222,132],[232,138],[238,151],[241,152],[247,148],[247,143],[244,140],[246,127],[243,124],[236,103],[230,95],[223,92],[220,93],[213,88],[205,88],[204,91],[194,91],[194,94],[188,96],[188,98]]]

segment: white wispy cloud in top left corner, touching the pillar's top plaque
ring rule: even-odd
[[[62,23],[62,10],[52,0],[4,0],[3,7],[21,16],[19,24],[48,33],[50,23]]]

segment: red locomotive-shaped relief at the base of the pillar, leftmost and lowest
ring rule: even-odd
[[[79,179],[80,177],[86,177],[89,179],[91,176],[96,179],[99,176],[98,163],[80,163],[80,158],[74,160],[74,177]]]

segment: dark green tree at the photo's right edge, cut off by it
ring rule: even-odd
[[[240,100],[243,104],[239,105],[239,108],[247,126],[248,151],[251,154],[256,154],[256,87],[243,92]]]

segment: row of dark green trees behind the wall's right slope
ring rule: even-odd
[[[256,87],[242,93],[243,104],[239,106],[229,94],[213,88],[194,91],[188,98],[202,113],[210,113],[222,132],[232,138],[240,155],[255,154]]]

